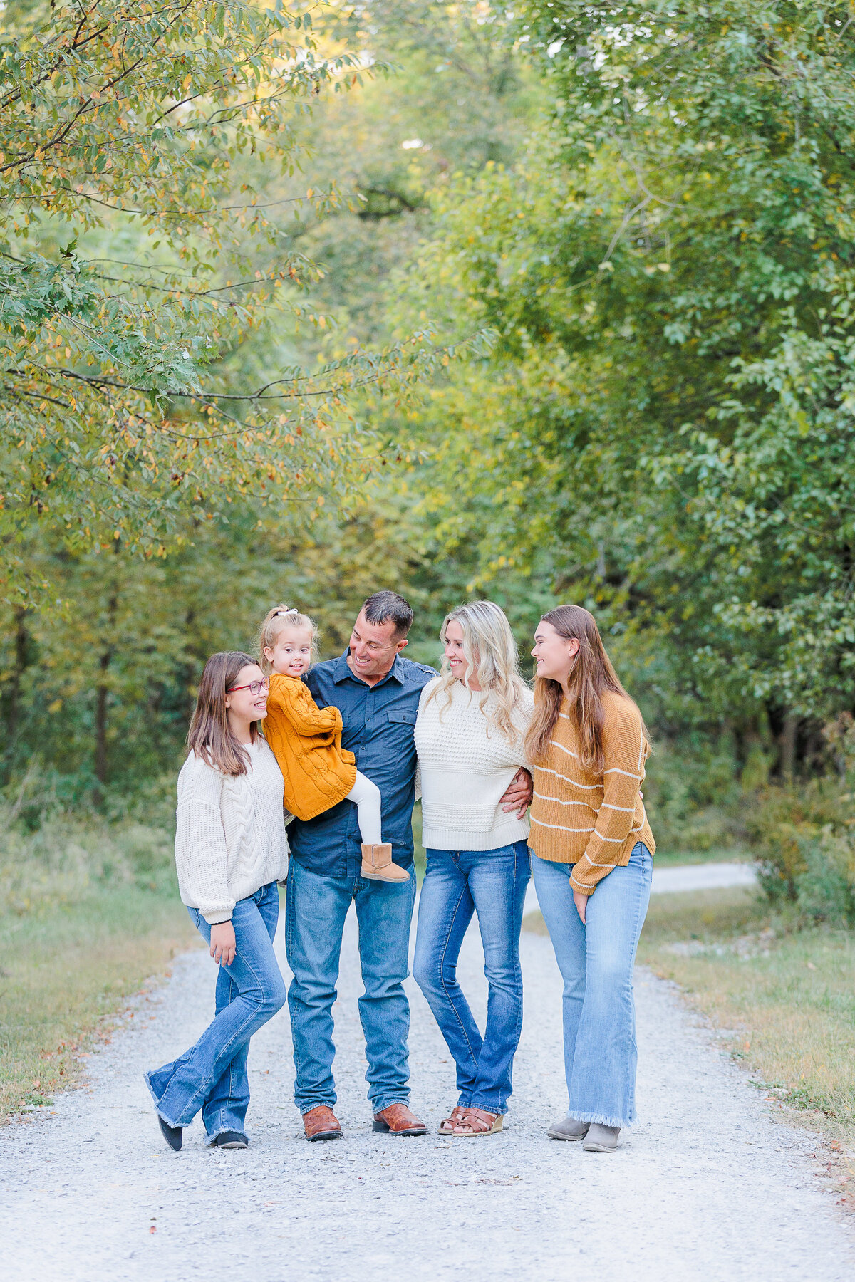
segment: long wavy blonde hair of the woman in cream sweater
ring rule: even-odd
[[[442,645],[446,642],[447,627],[451,622],[460,624],[467,677],[473,673],[481,686],[479,706],[487,718],[487,726],[492,726],[510,744],[515,744],[522,732],[519,726],[514,723],[514,713],[528,687],[519,673],[517,642],[505,612],[494,601],[469,601],[465,605],[458,605],[442,620],[440,629]],[[427,700],[428,704],[432,699],[444,700],[440,705],[440,720],[442,720],[445,708],[451,704],[451,686],[456,679],[444,655],[440,681]]]

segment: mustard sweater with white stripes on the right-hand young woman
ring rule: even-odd
[[[628,864],[637,842],[643,841],[651,855],[656,850],[641,792],[647,755],[641,713],[632,700],[611,691],[602,696],[602,712],[601,774],[579,760],[567,700],[549,760],[533,769],[528,845],[541,859],[573,864],[570,883],[583,895],[594,894],[613,868]]]

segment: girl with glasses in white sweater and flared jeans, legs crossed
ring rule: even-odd
[[[285,1001],[273,936],[288,846],[282,772],[259,735],[268,685],[247,654],[212,655],[178,776],[178,888],[219,970],[213,1023],[183,1055],[146,1073],[176,1150],[200,1109],[210,1145],[246,1147],[250,1037]]]

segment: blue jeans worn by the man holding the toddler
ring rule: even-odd
[[[368,1099],[374,1113],[406,1104],[410,1005],[404,992],[415,869],[409,882],[324,877],[292,859],[285,909],[285,945],[294,979],[288,988],[294,1099],[300,1113],[320,1104],[333,1108],[332,1005],[336,1000],[341,935],[351,900],[356,901],[359,963],[365,991],[359,1018],[365,1035]]]

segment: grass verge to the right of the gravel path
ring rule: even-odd
[[[767,1095],[855,1144],[855,933],[792,932],[750,888],[655,895],[638,960],[726,1031]]]

